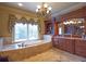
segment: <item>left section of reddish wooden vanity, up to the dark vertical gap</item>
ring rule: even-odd
[[[65,38],[53,38],[52,39],[53,47],[67,51],[70,53],[74,53],[74,40],[65,39]]]

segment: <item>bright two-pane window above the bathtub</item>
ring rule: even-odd
[[[14,41],[38,39],[38,25],[16,23],[14,25]]]

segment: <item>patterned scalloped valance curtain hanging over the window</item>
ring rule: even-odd
[[[25,17],[21,17],[19,20],[15,15],[10,14],[9,15],[9,31],[12,34],[12,29],[14,28],[15,23],[23,23],[23,24],[38,25],[38,30],[40,33],[39,22],[40,22],[39,20],[34,20],[34,18],[26,20]]]

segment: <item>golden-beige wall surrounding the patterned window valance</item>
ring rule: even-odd
[[[35,13],[0,5],[0,37],[10,37],[11,36],[11,34],[9,33],[9,29],[8,29],[9,14],[14,14],[19,18],[21,16],[25,16],[27,18],[30,18],[30,17],[37,18]],[[40,27],[41,27],[39,35],[41,37],[42,34],[45,33],[44,18],[42,17],[38,17],[38,18],[39,18],[39,23],[40,23]]]

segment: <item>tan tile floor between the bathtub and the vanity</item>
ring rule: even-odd
[[[23,62],[85,62],[86,59],[67,53],[59,49],[50,49],[46,52],[23,60]]]

